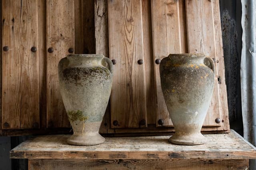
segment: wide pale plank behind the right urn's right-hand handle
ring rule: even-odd
[[[186,18],[188,35],[188,52],[204,53],[211,58],[216,58],[216,40],[214,30],[212,1],[186,0]],[[220,126],[215,122],[220,118],[218,103],[218,69],[215,72],[214,91],[212,101],[204,121],[204,126]]]

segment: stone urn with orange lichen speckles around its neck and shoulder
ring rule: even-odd
[[[214,87],[214,61],[204,54],[170,54],[160,63],[161,87],[179,145],[206,142],[202,125]]]

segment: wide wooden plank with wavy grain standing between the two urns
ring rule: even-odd
[[[118,17],[117,17],[118,16]],[[115,59],[111,95],[112,127],[147,125],[142,3],[139,0],[108,0],[110,59]]]

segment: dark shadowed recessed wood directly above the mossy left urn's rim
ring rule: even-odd
[[[75,53],[95,54],[94,0],[74,0]]]

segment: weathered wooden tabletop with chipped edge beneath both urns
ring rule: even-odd
[[[72,146],[70,135],[35,136],[10,151],[10,158],[40,159],[255,159],[256,148],[231,130],[228,134],[204,135],[203,145],[182,146],[168,142],[170,136],[107,137],[94,146]]]

